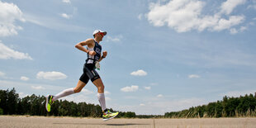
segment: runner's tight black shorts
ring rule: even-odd
[[[83,83],[88,83],[89,79],[93,82],[97,78],[100,78],[97,71],[95,70],[95,64],[84,64],[83,74],[79,78]]]

